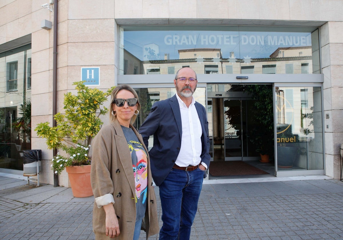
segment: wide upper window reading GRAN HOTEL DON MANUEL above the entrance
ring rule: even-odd
[[[119,74],[170,74],[183,66],[197,73],[320,73],[312,27],[121,26],[120,39]],[[264,69],[266,62],[275,67]]]

